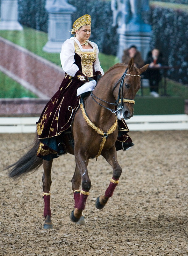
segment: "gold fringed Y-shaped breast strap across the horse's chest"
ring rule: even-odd
[[[93,124],[93,123],[90,121],[90,119],[88,118],[88,116],[87,116],[86,113],[85,113],[85,109],[83,108],[83,104],[82,104],[82,103],[80,104],[80,107],[81,107],[81,109],[82,109],[83,118],[85,119],[86,123],[87,123],[91,128],[93,128],[93,130],[95,130],[97,133],[99,133],[100,135],[103,136],[103,140],[102,140],[102,142],[100,143],[100,148],[99,148],[98,154],[95,156],[96,158],[98,158],[98,156],[100,156],[101,151],[102,151],[102,149],[103,149],[103,147],[104,147],[104,145],[105,145],[107,135],[108,135],[108,134],[111,134],[112,132],[114,132],[114,131],[116,130],[116,128],[117,128],[117,126],[118,126],[118,118],[117,118],[117,116],[115,116],[115,117],[116,117],[115,123],[112,125],[112,127],[110,127],[110,129],[109,129],[106,133],[104,133],[100,128],[98,128],[97,126],[95,126],[95,124]],[[105,136],[105,135],[106,135],[106,136]]]

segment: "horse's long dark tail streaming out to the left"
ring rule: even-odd
[[[9,165],[5,170],[8,170],[10,178],[17,179],[20,176],[27,174],[28,172],[35,172],[38,170],[43,160],[37,156],[37,150],[39,148],[40,140],[36,136],[33,141],[33,147],[29,149],[16,163]]]

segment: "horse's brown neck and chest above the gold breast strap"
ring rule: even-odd
[[[93,90],[93,94],[109,103],[115,103],[115,98],[112,93],[112,83],[105,79],[105,77],[101,78],[101,80],[98,82],[96,88]],[[107,104],[102,100],[98,100],[95,97],[94,99],[107,108],[115,108],[115,106]],[[115,122],[115,115],[110,110],[96,103],[92,99],[91,95],[85,100],[84,104],[90,120],[99,128],[107,129],[107,126],[109,128],[109,126],[112,126],[112,124]]]

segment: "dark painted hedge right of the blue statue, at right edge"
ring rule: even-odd
[[[153,29],[150,48],[159,48],[168,64],[176,66],[168,71],[168,77],[188,84],[188,12],[154,5],[145,22]]]

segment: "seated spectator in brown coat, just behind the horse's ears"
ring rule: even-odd
[[[122,62],[128,64],[131,58],[134,58],[134,66],[136,66],[137,68],[142,68],[144,66],[144,61],[142,60],[141,53],[137,51],[135,45],[131,45],[128,49],[123,51]]]

